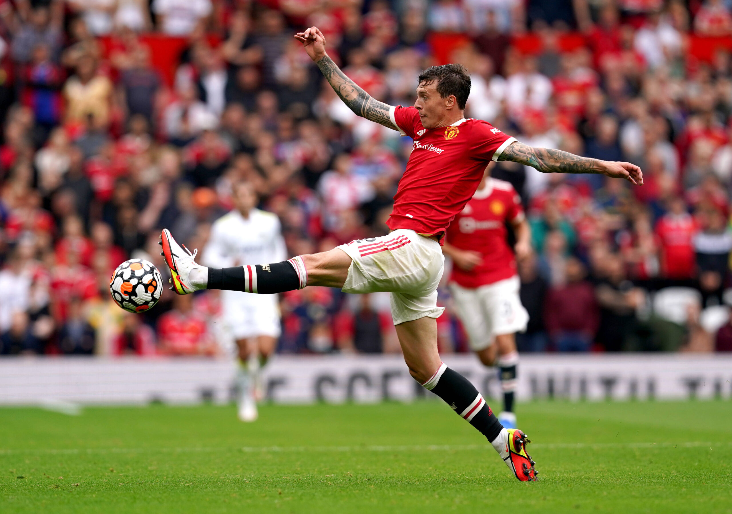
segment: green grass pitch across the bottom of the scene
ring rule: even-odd
[[[519,483],[438,401],[0,409],[1,513],[732,513],[732,404],[525,403]]]

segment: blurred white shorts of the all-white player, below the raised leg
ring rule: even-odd
[[[277,294],[221,291],[223,321],[234,339],[269,335],[279,338],[280,305]]]

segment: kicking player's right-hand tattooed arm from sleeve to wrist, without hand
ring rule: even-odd
[[[600,161],[580,157],[550,148],[533,148],[515,141],[509,144],[498,160],[512,160],[542,171],[543,173],[597,173],[602,174]]]

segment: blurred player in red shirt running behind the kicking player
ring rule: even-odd
[[[470,349],[486,366],[498,365],[504,395],[498,420],[506,428],[516,428],[515,333],[526,330],[529,321],[518,295],[516,258],[531,252],[531,228],[515,189],[509,182],[492,179],[491,166],[473,198],[452,220],[442,252],[452,258],[450,290]],[[508,245],[507,224],[516,236],[515,256]]]

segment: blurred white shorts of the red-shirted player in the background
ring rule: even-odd
[[[450,284],[455,310],[468,332],[471,350],[488,348],[496,335],[526,330],[529,313],[521,305],[520,287],[518,275],[478,288]]]

